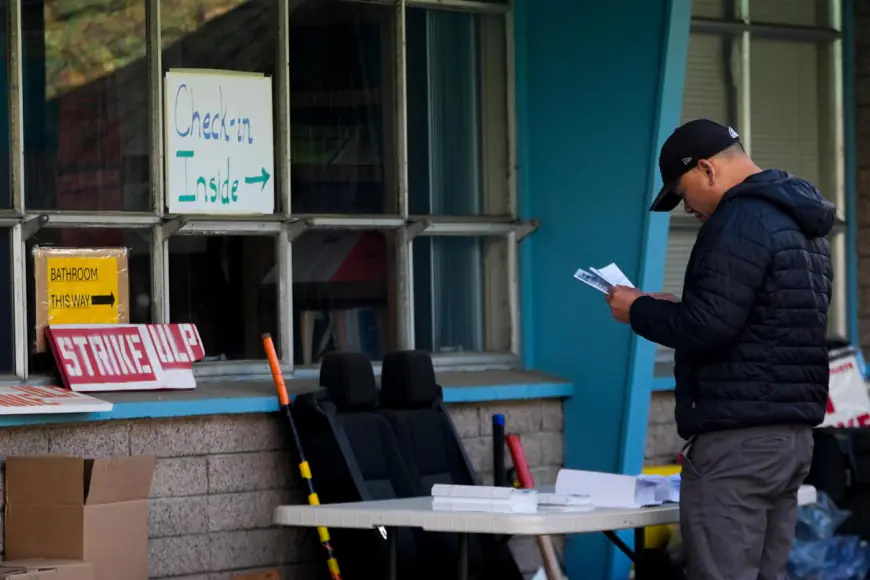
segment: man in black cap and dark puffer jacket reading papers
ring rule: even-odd
[[[680,299],[617,287],[614,317],[675,351],[683,453],[680,524],[692,580],[785,578],[797,490],[828,396],[834,207],[762,171],[737,133],[678,128],[651,211],[680,201],[704,224]]]

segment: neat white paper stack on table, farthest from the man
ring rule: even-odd
[[[538,492],[533,489],[488,485],[432,486],[432,509],[450,512],[534,514],[538,511]]]

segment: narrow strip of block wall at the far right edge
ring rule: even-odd
[[[858,316],[861,347],[870,354],[870,2],[855,6],[855,160],[858,175]]]

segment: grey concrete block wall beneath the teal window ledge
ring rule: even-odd
[[[537,480],[553,483],[563,463],[561,402],[451,407],[467,452],[488,481],[495,412],[522,435]],[[305,580],[324,566],[316,534],[271,525],[274,506],[306,501],[288,441],[276,415],[225,415],[5,428],[0,455],[156,455],[151,578],[227,580],[234,572],[279,567],[284,578]],[[514,550],[525,571],[539,565],[534,544],[521,541]]]

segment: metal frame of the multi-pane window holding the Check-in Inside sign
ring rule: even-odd
[[[394,10],[391,31],[395,49],[393,55],[394,78],[393,147],[396,167],[397,212],[393,214],[312,215],[292,213],[290,182],[290,26],[289,3],[278,2],[277,46],[278,58],[273,82],[277,85],[274,100],[274,150],[276,156],[276,206],[272,215],[256,217],[224,217],[204,215],[173,215],[166,211],[164,179],[164,111],[163,111],[163,58],[161,39],[160,0],[138,0],[145,4],[146,59],[149,77],[149,181],[151,211],[134,212],[75,212],[75,211],[29,211],[26,207],[26,184],[24,183],[24,126],[23,126],[23,60],[22,60],[22,1],[9,0],[8,46],[9,56],[9,127],[10,127],[10,194],[12,207],[0,210],[0,225],[11,226],[11,262],[13,297],[13,344],[14,375],[18,380],[30,376],[29,347],[27,344],[27,240],[41,228],[51,227],[102,227],[122,229],[148,228],[151,232],[151,319],[155,323],[169,322],[169,239],[174,235],[247,235],[271,236],[276,243],[276,266],[278,272],[278,333],[280,335],[279,358],[281,366],[295,378],[316,376],[317,365],[301,367],[293,360],[293,240],[308,230],[389,230],[396,233],[395,292],[398,312],[399,349],[414,348],[414,293],[413,255],[410,251],[413,239],[419,235],[471,235],[505,236],[510,297],[510,352],[509,353],[461,353],[433,354],[438,368],[450,370],[490,370],[517,368],[520,360],[519,330],[519,242],[534,231],[537,222],[520,221],[517,213],[517,127],[515,102],[514,24],[512,2],[484,2],[476,0],[395,0],[386,4]],[[347,0],[383,6],[383,0]],[[458,10],[496,16],[504,22],[504,73],[492,74],[494,67],[483,67],[481,84],[496,87],[484,90],[489,98],[506,99],[507,208],[503,216],[480,215],[476,217],[451,217],[441,215],[411,216],[408,213],[408,135],[407,135],[407,55],[405,49],[406,9],[408,7],[430,10]],[[498,35],[500,36],[500,34]],[[493,46],[489,47],[493,50]],[[500,88],[503,87],[503,88]],[[503,94],[506,90],[506,95]],[[486,110],[486,103],[482,103]],[[486,146],[486,140],[482,146]],[[502,144],[503,146],[503,144]],[[486,159],[486,156],[484,156]],[[486,307],[486,306],[485,306]],[[194,371],[198,377],[250,377],[268,375],[265,360],[239,360],[198,363]],[[295,371],[295,372],[294,372]],[[10,377],[12,378],[12,377]],[[37,380],[39,380],[37,378]]]

